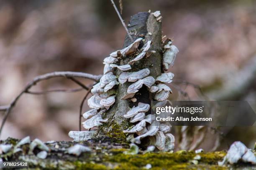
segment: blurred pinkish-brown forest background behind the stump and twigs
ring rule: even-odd
[[[176,80],[200,85],[211,100],[255,104],[256,1],[123,0],[125,23],[131,15],[148,10],[161,11],[163,35],[172,37],[179,48],[170,68]],[[37,75],[54,71],[102,74],[104,57],[123,46],[124,36],[109,0],[0,0],[0,105],[8,104]],[[70,80],[54,78],[32,90],[76,87]],[[194,87],[180,87],[186,88],[191,100],[203,100]],[[78,130],[79,105],[85,94],[23,95],[1,139],[30,135],[44,141],[71,140],[67,133]],[[174,90],[172,99],[178,99],[177,94]],[[85,104],[83,111],[88,109]],[[241,140],[252,147],[256,141],[255,126],[229,128],[224,133],[230,144]],[[214,141],[214,134],[209,134],[201,148],[207,149]]]

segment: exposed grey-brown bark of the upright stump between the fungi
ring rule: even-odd
[[[150,76],[156,78],[161,75],[161,23],[156,21],[156,18],[151,13],[141,12],[131,17],[128,24],[128,30],[131,32],[134,40],[139,37],[143,37],[145,39],[144,43],[148,40],[152,40],[153,43],[149,50],[156,51],[150,57],[144,57],[134,63],[132,65],[132,70],[129,70],[129,72],[148,68],[150,70]],[[126,35],[123,47],[127,47],[131,43],[130,38]],[[141,44],[140,47],[142,47],[142,45],[143,44]],[[120,65],[127,64],[133,57],[134,56],[124,57],[120,60]],[[117,70],[116,75],[119,76],[121,72],[122,71]],[[128,110],[130,110],[134,105],[137,106],[138,102],[150,104],[152,96],[144,86],[136,93],[135,97],[137,98],[137,101],[135,103],[131,102],[129,99],[121,100],[121,98],[127,94],[127,88],[131,84],[131,82],[125,82],[123,85],[120,84],[118,86],[118,94],[115,104],[110,110],[108,110],[108,112],[105,113],[105,117],[108,117],[108,122],[99,128],[96,135],[97,139],[106,139],[118,143],[125,142],[126,134],[123,133],[123,130],[127,129],[132,124],[129,123],[123,115],[125,115],[126,112],[128,112]]]

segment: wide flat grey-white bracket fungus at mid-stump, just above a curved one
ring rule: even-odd
[[[119,77],[118,81],[123,84],[127,80],[128,82],[136,82],[137,80],[140,80],[150,74],[150,71],[148,68],[144,68],[142,70],[136,71],[136,72],[122,72]]]

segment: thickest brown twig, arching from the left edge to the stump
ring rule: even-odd
[[[38,82],[40,82],[42,80],[48,80],[48,79],[53,78],[53,77],[66,77],[66,78],[82,77],[82,78],[87,78],[87,79],[94,80],[94,81],[99,81],[100,77],[102,77],[102,75],[91,75],[91,74],[84,73],[84,72],[64,71],[64,72],[50,72],[50,73],[47,73],[47,74],[44,74],[44,75],[39,75],[39,76],[35,77],[31,82],[28,83],[28,85],[26,85],[26,87],[19,93],[19,95],[16,96],[13,99],[13,101],[10,103],[10,105],[8,105],[8,107],[6,107],[6,106],[0,107],[0,108],[2,108],[1,111],[4,111],[4,108],[5,108],[5,114],[4,114],[4,117],[3,117],[3,120],[2,120],[2,124],[1,124],[1,127],[0,127],[0,135],[2,133],[3,126],[5,125],[5,122],[7,120],[7,117],[9,115],[10,111],[15,106],[16,102],[19,100],[21,95],[23,95],[23,93],[28,92],[28,90],[32,86],[36,85],[36,83],[38,83]]]

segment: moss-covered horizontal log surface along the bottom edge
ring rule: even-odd
[[[9,138],[0,143],[12,143],[18,140]],[[225,170],[225,169],[256,169],[251,164],[238,163],[237,165],[218,166],[218,161],[223,160],[226,155],[222,152],[198,153],[194,151],[178,151],[175,153],[147,153],[141,151],[136,155],[126,155],[126,145],[115,143],[82,143],[92,148],[90,153],[82,153],[80,156],[70,155],[67,148],[76,144],[75,142],[55,142],[46,144],[50,152],[46,159],[39,159],[36,153],[28,153],[29,145],[23,145],[22,152],[13,154],[13,150],[0,155],[3,160],[25,161],[30,168],[39,169],[78,169],[78,170],[138,170],[144,169],[147,164],[152,166],[151,170]],[[127,152],[126,152],[127,153]],[[194,157],[200,155],[198,163],[192,163]]]

